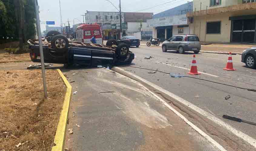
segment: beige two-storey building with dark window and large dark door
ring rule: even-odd
[[[255,0],[194,0],[191,34],[215,43],[256,43]]]

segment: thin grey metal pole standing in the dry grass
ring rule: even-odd
[[[43,53],[43,45],[42,45],[42,36],[41,36],[41,27],[40,27],[40,19],[39,19],[39,6],[37,0],[35,0],[35,14],[36,14],[36,30],[38,34],[39,41],[39,50],[41,56],[41,66],[42,66],[42,77],[43,77],[43,85],[44,85],[44,94],[45,99],[47,98],[47,87],[46,87],[46,79],[45,79],[45,62],[44,62],[44,53]]]

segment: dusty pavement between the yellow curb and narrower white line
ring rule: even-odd
[[[75,81],[71,85],[78,92],[72,98],[68,125],[68,129],[73,128],[73,134],[68,135],[70,140],[65,148],[218,150],[139,83],[103,68],[63,72],[70,81]]]

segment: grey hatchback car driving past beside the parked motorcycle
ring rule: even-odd
[[[176,50],[181,54],[185,51],[199,53],[201,43],[197,35],[175,35],[163,42],[162,51],[166,52],[167,50]]]

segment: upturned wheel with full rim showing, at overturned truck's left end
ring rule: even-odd
[[[52,48],[58,53],[65,53],[68,50],[68,38],[62,35],[52,37]]]

